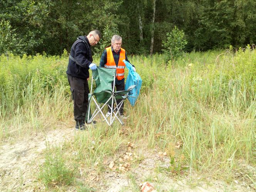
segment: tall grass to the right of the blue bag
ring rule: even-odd
[[[167,67],[160,56],[143,59],[136,70],[152,83],[130,108],[140,124],[131,136],[147,135],[151,148],[181,141],[188,165],[228,179],[243,160],[255,165],[255,56],[249,49],[191,53]]]

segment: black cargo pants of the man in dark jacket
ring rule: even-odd
[[[67,75],[72,99],[74,101],[74,119],[87,122],[89,87],[87,79]]]

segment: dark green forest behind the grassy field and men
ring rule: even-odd
[[[101,54],[113,34],[128,54],[162,52],[174,26],[185,51],[245,47],[256,42],[254,0],[2,0],[0,54],[61,55],[80,35],[98,29]]]

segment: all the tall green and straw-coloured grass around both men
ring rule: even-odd
[[[125,103],[129,120],[124,127],[100,123],[75,135],[66,144],[67,153],[77,152],[69,161],[89,167],[98,162],[96,171],[104,173],[104,159],[117,159],[128,141],[145,140],[143,147],[162,151],[180,142],[172,157],[188,173],[226,182],[242,162],[256,166],[255,50],[192,52],[169,65],[160,54],[130,61],[143,84],[135,107]],[[72,119],[66,66],[66,54],[0,57],[0,140]],[[134,176],[128,177],[135,189]]]

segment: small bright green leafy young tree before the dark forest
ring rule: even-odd
[[[185,40],[183,30],[179,30],[176,26],[172,30],[172,32],[167,33],[167,39],[163,40],[163,52],[167,54],[168,59],[173,59],[181,56],[182,50],[185,48],[187,44],[187,40]]]

